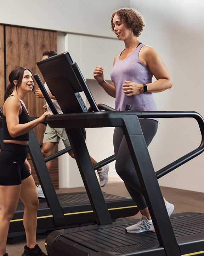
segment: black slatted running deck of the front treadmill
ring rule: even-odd
[[[172,214],[170,219],[181,254],[199,252],[199,255],[204,255],[204,214],[188,212]],[[60,237],[63,240],[65,238],[64,241],[67,239],[68,245],[73,242],[76,248],[86,248],[85,251],[89,251],[90,255],[125,255],[126,253],[127,255],[146,255],[149,252],[152,256],[165,255],[164,249],[159,246],[156,233],[149,231],[139,234],[125,232],[126,227],[137,222],[138,220],[134,219],[114,222],[111,225],[69,228],[61,230]],[[58,239],[51,241],[48,236],[46,242],[48,252],[52,246],[56,250]],[[68,245],[65,242],[63,246],[67,247]],[[59,248],[59,250],[60,255],[65,255],[62,253],[62,249]],[[77,254],[80,255],[79,252]],[[50,255],[55,254],[50,253]],[[75,256],[75,254],[72,255]]]

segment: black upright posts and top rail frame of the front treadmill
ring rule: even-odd
[[[174,231],[172,229],[168,213],[164,204],[162,193],[159,188],[157,176],[155,175],[151,158],[142,134],[138,117],[193,117],[198,123],[200,130],[204,131],[203,118],[196,112],[94,112],[94,113],[74,113],[60,114],[46,117],[46,122],[53,128],[66,128],[69,134],[69,140],[76,156],[76,161],[84,181],[87,194],[89,195],[91,205],[99,220],[100,225],[111,224],[108,217],[107,208],[104,207],[101,199],[101,190],[97,186],[93,187],[96,182],[91,182],[91,170],[93,169],[91,160],[87,157],[88,150],[84,143],[80,128],[94,127],[121,127],[125,139],[128,143],[130,154],[134,165],[139,167],[137,175],[141,182],[143,193],[151,214],[155,231],[157,233],[160,246],[165,250],[167,256],[180,256],[179,246],[177,244]],[[204,140],[193,157],[204,151]],[[145,156],[145,157],[144,157]],[[188,157],[190,160],[190,156]],[[187,160],[187,161],[188,161]],[[185,161],[185,159],[183,159]],[[180,164],[179,162],[177,164]],[[175,165],[174,165],[175,167]],[[148,170],[148,172],[146,172]],[[96,196],[97,195],[97,196]],[[102,200],[102,201],[101,201]],[[98,205],[98,202],[100,204]],[[159,205],[159,208],[158,208]],[[100,213],[103,212],[102,216]],[[104,216],[105,219],[104,219]]]

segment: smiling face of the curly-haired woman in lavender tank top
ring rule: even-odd
[[[113,32],[116,34],[119,40],[124,41],[125,39],[133,36],[131,28],[128,28],[123,19],[120,20],[116,14],[113,17],[112,25],[114,27]]]

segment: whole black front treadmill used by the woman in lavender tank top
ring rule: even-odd
[[[63,106],[63,98],[65,98],[64,96],[61,98],[61,94],[67,92],[69,94],[66,94],[66,104],[69,103],[70,98],[77,104],[76,111],[48,116],[46,122],[51,127],[66,128],[81,177],[97,218],[95,225],[53,231],[46,239],[48,255],[204,255],[204,214],[187,212],[172,214],[169,218],[157,180],[204,151],[204,120],[202,116],[191,111],[87,112],[84,111],[83,100],[77,94],[78,89],[82,90],[80,86],[84,89],[86,84],[77,64],[72,62],[68,52],[41,60],[37,64],[60,106]],[[60,87],[55,86],[55,84],[59,84],[58,81],[61,81]],[[75,83],[78,83],[77,86]],[[86,92],[87,90],[88,88],[86,88]],[[91,105],[93,102],[89,103]],[[79,111],[80,108],[81,111]],[[200,146],[155,173],[138,121],[138,118],[150,117],[196,119],[202,135]],[[156,233],[149,231],[140,234],[125,233],[125,228],[135,224],[137,220],[112,222],[100,186],[94,180],[94,168],[80,130],[80,128],[90,127],[121,127],[123,129],[134,165],[139,167],[136,169],[138,170],[137,175]],[[146,172],[147,169],[148,172]]]

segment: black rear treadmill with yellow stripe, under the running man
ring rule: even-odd
[[[37,76],[35,76],[35,78],[37,79]],[[54,106],[51,106],[52,111],[54,111],[53,108]],[[56,113],[56,110],[53,113]],[[0,116],[2,117],[1,109]],[[3,145],[1,128],[2,119],[0,119],[0,148],[2,148]],[[85,138],[85,132],[83,130],[82,133]],[[63,149],[62,153],[67,152],[68,150],[71,150],[71,148]],[[29,132],[28,151],[46,199],[39,200],[37,233],[50,232],[50,230],[56,230],[59,228],[83,226],[85,224],[96,224],[97,221],[86,192],[56,194],[45,163],[46,161],[53,159],[53,157],[49,156],[44,159],[33,129]],[[58,153],[53,155],[56,157],[59,156]],[[95,168],[97,169],[98,167],[106,165],[108,162],[113,160],[114,156],[111,156],[101,162],[98,162]],[[108,193],[103,194],[113,220],[121,217],[133,216],[138,213],[138,208],[132,198],[120,197]],[[25,235],[23,212],[24,205],[21,200],[19,200],[18,207],[11,220],[8,231],[8,242],[10,244],[19,241],[21,239],[20,237]]]

